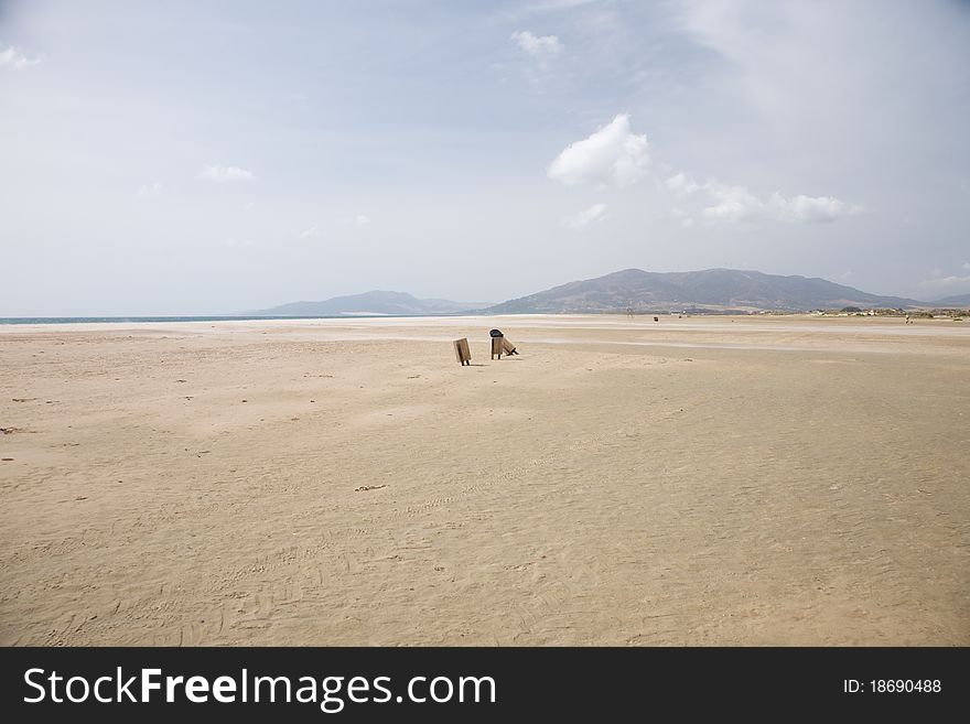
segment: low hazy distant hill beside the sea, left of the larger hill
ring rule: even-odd
[[[349,296],[334,296],[323,302],[291,302],[255,316],[331,316],[366,314],[457,314],[487,306],[483,302],[452,302],[446,299],[417,299],[405,292],[373,291]]]

